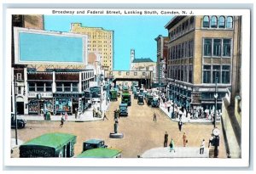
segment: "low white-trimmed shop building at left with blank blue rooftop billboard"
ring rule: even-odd
[[[38,115],[41,109],[72,114],[75,108],[86,109],[84,91],[95,80],[94,70],[86,69],[87,36],[14,27],[13,37],[17,114]]]

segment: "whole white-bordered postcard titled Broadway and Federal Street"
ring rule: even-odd
[[[5,30],[6,166],[249,165],[249,10],[9,8]]]

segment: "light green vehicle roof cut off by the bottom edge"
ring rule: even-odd
[[[97,148],[89,149],[77,156],[77,158],[121,158],[122,151],[119,149]]]

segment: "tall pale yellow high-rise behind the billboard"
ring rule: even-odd
[[[100,56],[104,70],[113,70],[113,31],[106,31],[99,27],[82,26],[81,23],[72,23],[71,32],[88,36],[88,53]]]

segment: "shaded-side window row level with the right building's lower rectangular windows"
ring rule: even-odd
[[[172,65],[167,76],[177,81],[192,83],[193,65]]]

